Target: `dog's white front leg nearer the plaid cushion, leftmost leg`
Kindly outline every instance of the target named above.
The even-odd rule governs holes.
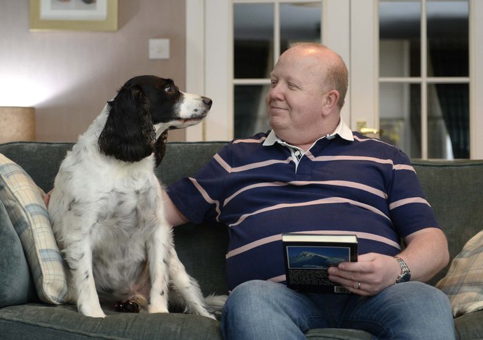
[[[87,317],[106,317],[99,303],[92,275],[92,250],[89,241],[73,241],[63,252],[77,290],[77,309]]]

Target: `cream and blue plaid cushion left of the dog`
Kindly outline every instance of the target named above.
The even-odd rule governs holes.
[[[72,292],[42,197],[30,176],[0,154],[0,201],[19,235],[37,294],[47,303],[69,302]]]

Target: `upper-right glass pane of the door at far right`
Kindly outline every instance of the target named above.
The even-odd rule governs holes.
[[[428,1],[428,76],[469,74],[468,0]]]

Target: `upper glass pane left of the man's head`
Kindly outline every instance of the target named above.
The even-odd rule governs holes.
[[[235,3],[235,78],[268,78],[273,69],[273,4]]]

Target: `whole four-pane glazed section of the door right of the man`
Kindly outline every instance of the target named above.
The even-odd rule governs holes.
[[[381,139],[469,158],[469,1],[379,1],[379,39]]]

